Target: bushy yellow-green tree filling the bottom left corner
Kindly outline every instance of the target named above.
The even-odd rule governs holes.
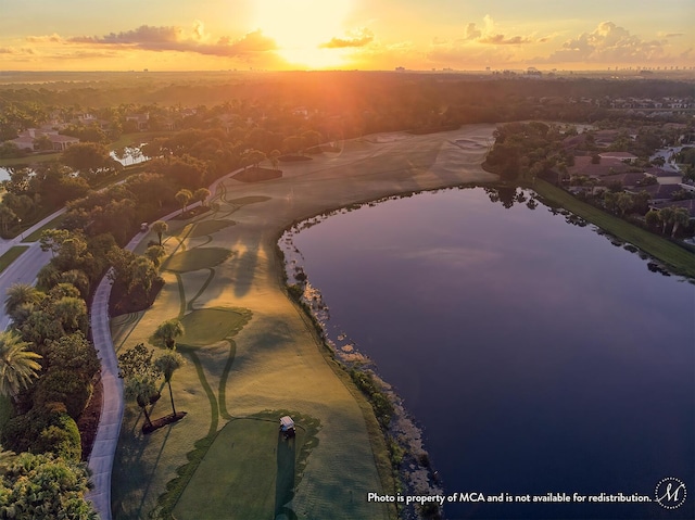
[[[2,475],[0,516],[98,520],[85,499],[89,487],[86,465],[51,454],[24,453]]]

